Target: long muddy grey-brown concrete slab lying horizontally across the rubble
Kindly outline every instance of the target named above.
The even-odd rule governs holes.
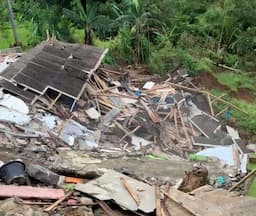
[[[114,169],[118,171],[126,170],[126,173],[137,176],[139,179],[158,179],[165,181],[167,178],[182,178],[186,170],[189,170],[193,163],[178,158],[176,156],[170,156],[168,160],[151,160],[147,158],[122,158],[117,159],[104,159],[99,160],[101,156],[90,156],[84,152],[79,151],[60,151],[56,156],[56,160],[52,164],[51,168],[57,173],[66,173],[72,175],[78,175],[81,177],[88,177],[92,174],[101,174],[99,168]],[[225,172],[216,163],[203,162],[209,170],[209,175],[224,175]],[[163,169],[164,167],[164,169]]]

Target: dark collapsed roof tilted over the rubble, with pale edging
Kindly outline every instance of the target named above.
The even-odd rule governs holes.
[[[23,88],[35,96],[52,89],[77,101],[106,52],[84,44],[44,41],[2,71],[0,85],[22,97],[27,97]]]

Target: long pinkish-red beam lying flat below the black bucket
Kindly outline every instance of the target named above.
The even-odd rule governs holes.
[[[30,186],[0,185],[0,197],[20,197],[23,199],[57,200],[65,195],[62,189],[40,188]]]

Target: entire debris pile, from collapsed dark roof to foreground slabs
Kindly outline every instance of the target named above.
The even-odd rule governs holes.
[[[198,203],[204,196],[186,193],[207,184],[228,189],[247,173],[251,151],[237,130],[217,119],[239,108],[187,87],[193,83],[180,68],[159,81],[101,64],[107,50],[58,41],[42,42],[22,55],[13,52],[5,52],[0,63],[1,148],[25,162],[0,155],[5,161],[0,197],[19,197],[14,200],[18,205],[48,206],[45,212],[83,208],[87,213],[81,215],[93,215],[99,206],[107,215],[129,210],[131,215],[156,211],[164,216],[167,200],[178,203],[168,205],[172,215],[175,208],[194,215],[224,215],[231,209],[214,202],[202,208]],[[228,108],[214,114],[214,102]],[[187,159],[202,156],[207,168],[191,170]],[[164,175],[154,172],[156,164]],[[138,166],[144,171],[136,172]],[[190,171],[183,177],[174,167],[181,175]],[[111,209],[111,201],[121,209]]]

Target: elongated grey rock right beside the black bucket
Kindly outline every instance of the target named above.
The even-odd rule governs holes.
[[[30,177],[46,185],[58,185],[62,179],[58,174],[36,164],[29,164],[26,171]]]

